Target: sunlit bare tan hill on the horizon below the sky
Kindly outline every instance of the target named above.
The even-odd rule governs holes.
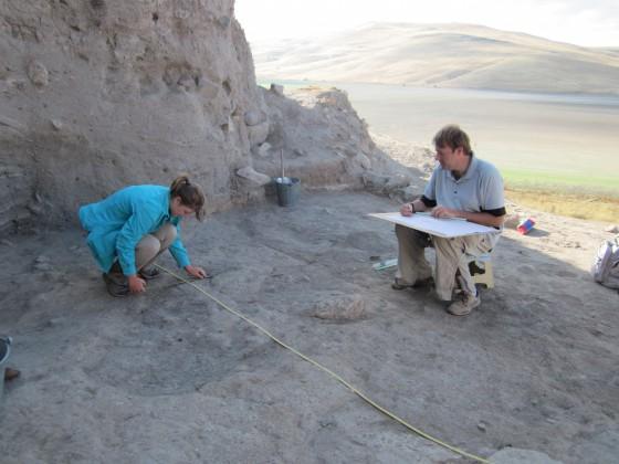
[[[263,78],[619,94],[617,49],[473,24],[373,23],[315,41],[251,46]]]

